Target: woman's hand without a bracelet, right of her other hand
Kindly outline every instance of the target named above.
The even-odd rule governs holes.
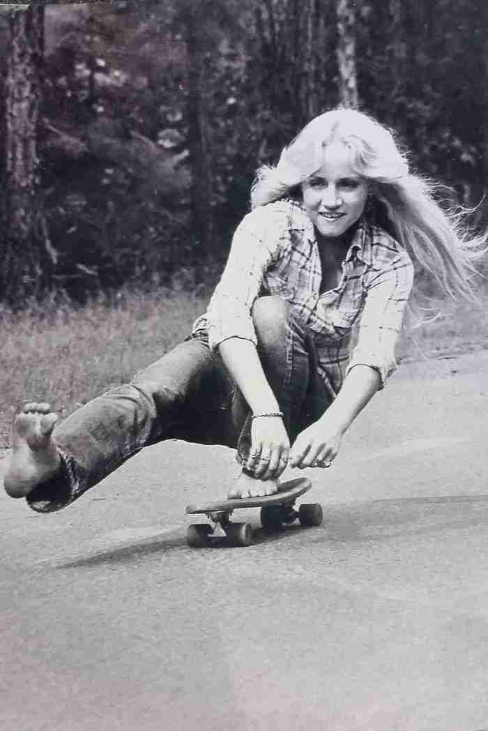
[[[330,467],[338,455],[343,430],[327,422],[322,417],[297,436],[290,450],[290,467]]]

